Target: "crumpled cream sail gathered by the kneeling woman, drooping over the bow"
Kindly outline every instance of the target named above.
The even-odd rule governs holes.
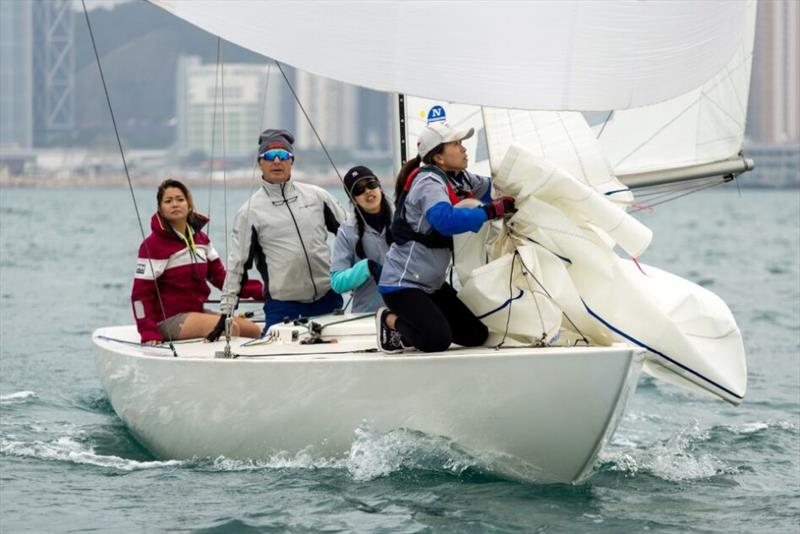
[[[491,261],[475,271],[482,276],[479,283],[470,278],[459,293],[476,314],[485,295],[502,302],[490,317],[494,322],[486,321],[493,332],[503,332],[496,317],[504,317],[506,308],[513,317],[515,292],[521,298],[524,288],[501,266],[524,255],[550,307],[529,306],[528,328],[513,330],[515,338],[524,339],[525,333],[537,338],[553,323],[553,310],[563,310],[570,320],[561,327],[572,334],[570,340],[578,334],[604,344],[610,336],[639,345],[648,351],[651,374],[741,402],[747,388],[745,352],[725,303],[707,289],[654,267],[640,268],[614,252],[619,246],[639,255],[650,242],[646,227],[569,172],[516,145],[506,152],[495,185],[517,198],[519,211],[501,230],[507,238],[489,247]],[[499,275],[485,276],[490,270]],[[533,311],[549,322],[537,320]]]

